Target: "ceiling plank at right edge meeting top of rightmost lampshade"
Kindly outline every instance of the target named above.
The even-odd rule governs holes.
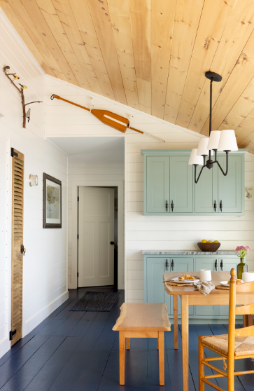
[[[236,129],[254,109],[254,78],[219,126],[219,130]]]

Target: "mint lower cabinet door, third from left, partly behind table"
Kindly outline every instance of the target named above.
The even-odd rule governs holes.
[[[195,259],[195,269],[196,270],[202,270],[202,269],[209,269],[211,271],[218,271],[219,270],[219,259],[218,258],[210,258],[210,257],[204,257],[204,258],[196,258]],[[207,316],[207,317],[213,317],[218,316],[220,313],[220,306],[196,306],[196,316]]]

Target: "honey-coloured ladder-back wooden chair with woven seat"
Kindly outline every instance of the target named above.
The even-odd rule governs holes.
[[[254,294],[253,304],[246,306],[236,306],[236,295],[241,292],[254,292],[254,282],[246,282],[245,284],[236,283],[236,270],[232,269],[230,272],[230,315],[228,322],[228,334],[221,336],[199,336],[199,391],[204,391],[205,383],[211,385],[218,391],[224,391],[209,381],[212,378],[227,377],[227,391],[234,391],[234,376],[246,375],[254,373],[253,371],[234,371],[235,359],[254,358],[254,326],[243,327],[241,329],[235,328],[236,315],[251,315],[254,314]],[[216,352],[220,357],[204,357],[204,348],[208,348]],[[209,363],[216,360],[227,359],[227,372],[222,371],[216,366]],[[205,376],[204,366],[208,366],[218,374]],[[224,366],[226,367],[226,366]]]

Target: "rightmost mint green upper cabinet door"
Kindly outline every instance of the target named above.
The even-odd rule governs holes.
[[[218,161],[226,170],[226,156],[219,156]],[[218,169],[218,212],[219,213],[241,213],[241,193],[244,184],[242,183],[242,159],[241,156],[230,156],[228,159],[228,173],[224,177]]]

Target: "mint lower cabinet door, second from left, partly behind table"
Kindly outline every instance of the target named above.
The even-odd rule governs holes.
[[[181,274],[189,274],[193,272],[194,259],[193,258],[171,258],[170,271],[179,272]],[[169,296],[169,295],[168,295]],[[173,297],[170,296],[170,315],[174,315]],[[181,315],[181,299],[178,300],[178,315]],[[189,315],[194,315],[194,307],[189,306]]]

